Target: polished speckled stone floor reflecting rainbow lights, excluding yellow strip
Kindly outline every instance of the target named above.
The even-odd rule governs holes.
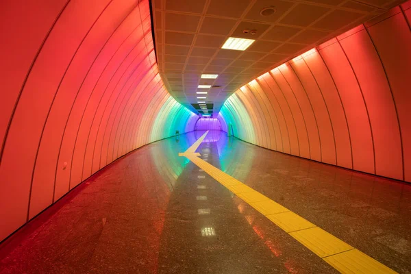
[[[338,273],[187,158],[204,132],[129,153],[0,245],[0,273]],[[398,273],[411,186],[209,132],[200,158]]]

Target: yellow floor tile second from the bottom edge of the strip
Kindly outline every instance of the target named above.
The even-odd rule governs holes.
[[[321,258],[353,249],[351,245],[332,236],[320,227],[292,232],[290,235]]]

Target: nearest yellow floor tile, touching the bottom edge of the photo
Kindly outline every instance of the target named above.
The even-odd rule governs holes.
[[[397,273],[384,264],[374,260],[358,249],[338,253],[324,258],[325,262],[334,266],[340,273],[383,274]]]

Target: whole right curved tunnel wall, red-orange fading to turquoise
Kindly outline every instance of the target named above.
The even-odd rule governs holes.
[[[221,119],[261,147],[411,182],[410,3],[242,86]]]

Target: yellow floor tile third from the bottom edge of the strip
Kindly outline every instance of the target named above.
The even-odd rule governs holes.
[[[267,215],[266,217],[273,221],[273,223],[284,229],[285,232],[295,232],[297,230],[315,227],[314,224],[290,211]]]

